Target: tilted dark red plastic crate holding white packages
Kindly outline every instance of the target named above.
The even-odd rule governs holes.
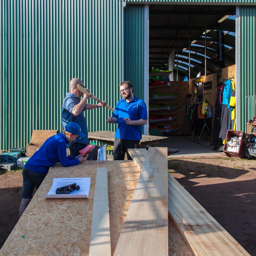
[[[240,137],[241,136],[241,143],[239,145],[238,148],[238,153],[236,152],[230,152],[227,151],[227,142],[230,140],[231,137],[233,136],[237,136]],[[225,144],[223,147],[223,152],[226,154],[226,156],[231,157],[231,158],[244,158],[245,156],[245,149],[246,149],[246,144],[245,144],[245,134],[243,131],[233,131],[233,130],[228,130],[227,135],[226,135],[226,139],[225,139]]]

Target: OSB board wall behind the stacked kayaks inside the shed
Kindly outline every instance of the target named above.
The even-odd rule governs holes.
[[[177,103],[180,104],[180,106],[177,109],[174,110],[156,110],[156,111],[149,111],[150,115],[178,115],[176,119],[173,121],[162,121],[162,122],[154,122],[152,125],[184,125],[184,114],[186,111],[186,101],[187,101],[187,94],[190,94],[189,92],[189,82],[184,81],[177,81],[175,84],[171,84],[170,86],[160,87],[160,88],[153,88],[149,91],[154,93],[161,92],[161,93],[178,93],[180,96],[176,99],[164,99],[164,100],[153,100],[153,103],[164,103],[164,104],[173,104]],[[180,129],[177,132],[172,133],[163,133],[164,136],[166,135],[180,135],[184,134],[184,129]]]

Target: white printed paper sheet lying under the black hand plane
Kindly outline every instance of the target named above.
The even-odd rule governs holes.
[[[70,194],[56,194],[56,189],[76,183],[80,186],[79,190],[73,190]],[[47,195],[43,195],[45,198],[88,198],[89,190],[91,186],[91,178],[54,178],[52,187]]]

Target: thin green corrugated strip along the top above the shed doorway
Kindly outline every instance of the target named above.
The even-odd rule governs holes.
[[[172,4],[253,4],[256,3],[255,0],[124,0],[130,3],[172,3]]]

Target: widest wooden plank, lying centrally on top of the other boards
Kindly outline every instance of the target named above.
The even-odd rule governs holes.
[[[148,149],[114,256],[168,255],[166,154]]]

